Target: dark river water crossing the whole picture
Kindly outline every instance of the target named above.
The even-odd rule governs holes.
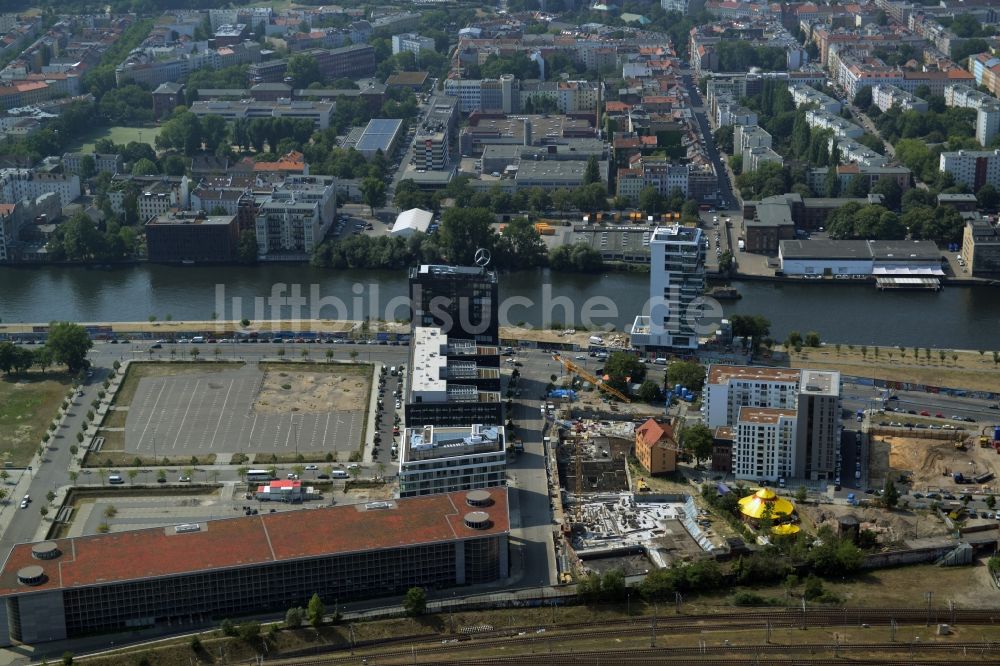
[[[501,276],[505,323],[581,322],[627,328],[646,307],[648,276],[579,275],[548,270]],[[761,314],[772,336],[814,330],[824,340],[907,347],[1000,350],[1000,291],[946,287],[883,293],[871,284],[742,282],[725,314]],[[293,289],[297,289],[295,292]],[[3,323],[290,317],[395,319],[404,316],[403,271],[330,271],[303,265],[160,266],[114,269],[0,267]],[[269,297],[298,296],[284,303]],[[518,297],[514,300],[514,297]],[[395,299],[395,300],[394,300]],[[395,309],[393,309],[395,307]],[[387,309],[388,308],[388,309]],[[584,310],[587,310],[586,312]]]

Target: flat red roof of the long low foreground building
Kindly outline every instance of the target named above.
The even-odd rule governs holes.
[[[57,539],[62,554],[54,560],[35,559],[31,544],[18,544],[0,569],[0,596],[509,532],[507,489],[489,493],[493,504],[486,508],[470,507],[466,493],[457,492],[394,500],[391,508],[357,504],[211,520],[180,534],[157,527]],[[471,511],[487,512],[490,527],[467,527],[463,519]],[[45,582],[18,582],[18,570],[30,565],[43,568]]]

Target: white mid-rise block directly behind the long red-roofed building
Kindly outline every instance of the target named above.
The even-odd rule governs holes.
[[[406,428],[399,450],[399,496],[476,490],[506,483],[507,448],[499,425]]]

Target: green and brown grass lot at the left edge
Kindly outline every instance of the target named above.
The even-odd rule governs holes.
[[[0,381],[0,458],[27,465],[69,390],[64,373],[31,372]]]

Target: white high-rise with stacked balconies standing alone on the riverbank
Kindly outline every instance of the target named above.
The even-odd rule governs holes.
[[[632,344],[651,349],[697,349],[697,308],[705,289],[701,229],[657,227],[649,239],[649,316],[636,317]]]

